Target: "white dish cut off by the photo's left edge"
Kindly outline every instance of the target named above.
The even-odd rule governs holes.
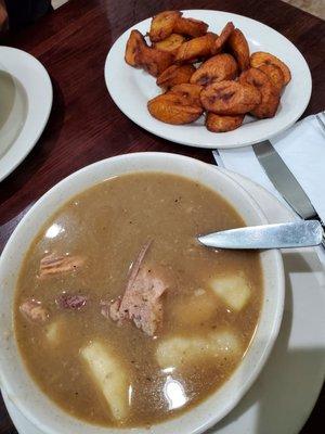
[[[52,107],[43,65],[25,51],[0,47],[0,181],[31,151]]]

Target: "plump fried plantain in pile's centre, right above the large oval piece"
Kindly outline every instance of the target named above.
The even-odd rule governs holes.
[[[217,54],[204,62],[192,75],[190,82],[207,86],[232,80],[237,76],[237,64],[231,54]]]

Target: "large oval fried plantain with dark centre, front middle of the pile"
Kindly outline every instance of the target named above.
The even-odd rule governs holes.
[[[225,80],[203,89],[200,102],[208,112],[239,115],[251,112],[261,102],[261,93],[251,85]]]

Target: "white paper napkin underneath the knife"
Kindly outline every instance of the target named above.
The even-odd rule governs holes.
[[[320,115],[322,116],[322,115]],[[325,122],[325,116],[322,117]],[[315,115],[300,120],[271,143],[325,221],[325,129]],[[217,164],[261,184],[286,206],[259,164],[251,146],[213,151]]]

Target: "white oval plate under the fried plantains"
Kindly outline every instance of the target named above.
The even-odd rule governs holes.
[[[116,105],[135,124],[156,136],[172,142],[198,148],[238,148],[257,143],[290,127],[304,112],[311,95],[311,74],[308,64],[298,49],[273,28],[246,16],[221,11],[190,10],[184,16],[205,21],[209,30],[220,34],[226,22],[245,34],[250,51],[268,51],[282,59],[290,68],[292,79],[286,87],[275,117],[247,122],[238,129],[229,132],[210,132],[204,127],[204,116],[194,124],[168,125],[154,117],[147,111],[147,101],[161,90],[155,78],[144,71],[133,68],[125,62],[126,43],[132,29],[145,35],[151,18],[135,24],[122,34],[106,59],[105,80]]]

